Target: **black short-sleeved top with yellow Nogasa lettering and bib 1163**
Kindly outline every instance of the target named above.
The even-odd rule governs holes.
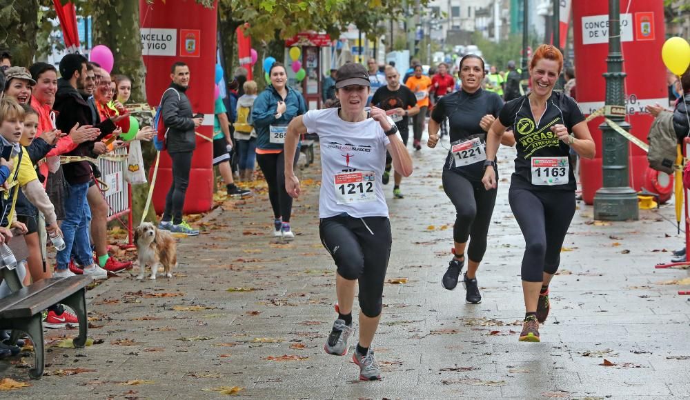
[[[529,94],[506,103],[498,119],[512,126],[517,157],[511,188],[529,190],[575,190],[575,174],[569,163],[570,146],[563,143],[551,127],[562,124],[573,132],[573,126],[584,121],[584,115],[571,97],[552,92],[546,110],[535,121],[529,105]]]

